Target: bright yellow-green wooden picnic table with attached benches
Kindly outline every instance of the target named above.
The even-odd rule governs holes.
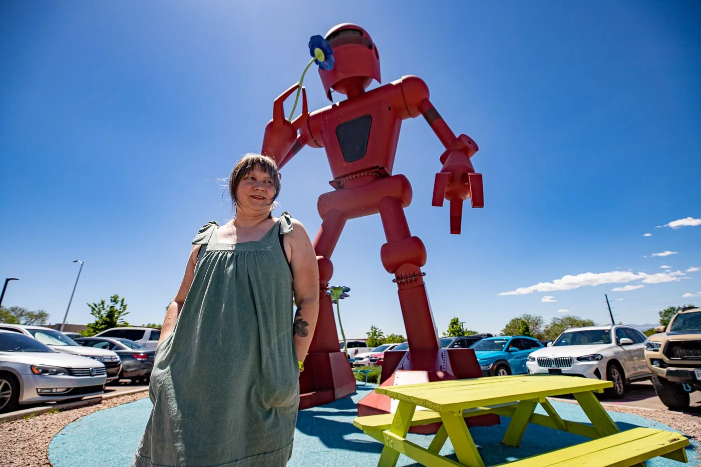
[[[399,401],[397,410],[394,414],[357,417],[353,424],[385,445],[378,467],[394,467],[400,454],[429,467],[484,467],[464,418],[486,413],[511,418],[502,440],[509,446],[519,445],[529,423],[592,438],[579,445],[509,462],[510,467],[644,466],[644,461],[655,456],[686,462],[684,448],[689,441],[679,433],[653,428],[619,430],[594,395],[611,386],[611,381],[559,375],[378,386],[377,393]],[[557,414],[547,397],[565,394],[574,395],[591,425],[563,420]],[[538,404],[547,415],[533,412]],[[436,422],[442,422],[442,426],[428,449],[406,439],[411,426]],[[439,454],[447,438],[458,462]]]

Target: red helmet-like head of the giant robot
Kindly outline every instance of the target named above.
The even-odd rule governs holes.
[[[331,70],[319,70],[326,97],[331,102],[331,90],[347,94],[351,88],[366,89],[372,80],[380,80],[380,55],[365,29],[349,22],[337,25],[325,38],[334,49],[336,63]]]

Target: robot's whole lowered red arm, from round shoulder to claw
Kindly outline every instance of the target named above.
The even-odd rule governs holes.
[[[432,204],[442,206],[444,199],[450,201],[450,233],[460,234],[463,201],[470,198],[472,208],[484,207],[482,174],[475,173],[470,161],[479,150],[477,143],[467,135],[456,137],[431,104],[428,99],[428,87],[421,79],[416,76],[402,79],[402,93],[407,102],[409,116],[423,115],[445,147],[440,156],[443,167],[435,176]]]

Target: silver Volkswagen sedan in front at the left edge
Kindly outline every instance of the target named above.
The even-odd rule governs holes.
[[[102,394],[104,364],[53,351],[32,337],[0,331],[0,413],[19,405]]]

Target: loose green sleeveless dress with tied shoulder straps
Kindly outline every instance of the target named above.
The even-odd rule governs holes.
[[[156,352],[151,417],[132,467],[279,467],[292,454],[299,365],[292,339],[292,273],[280,235],[202,245],[175,330]]]

